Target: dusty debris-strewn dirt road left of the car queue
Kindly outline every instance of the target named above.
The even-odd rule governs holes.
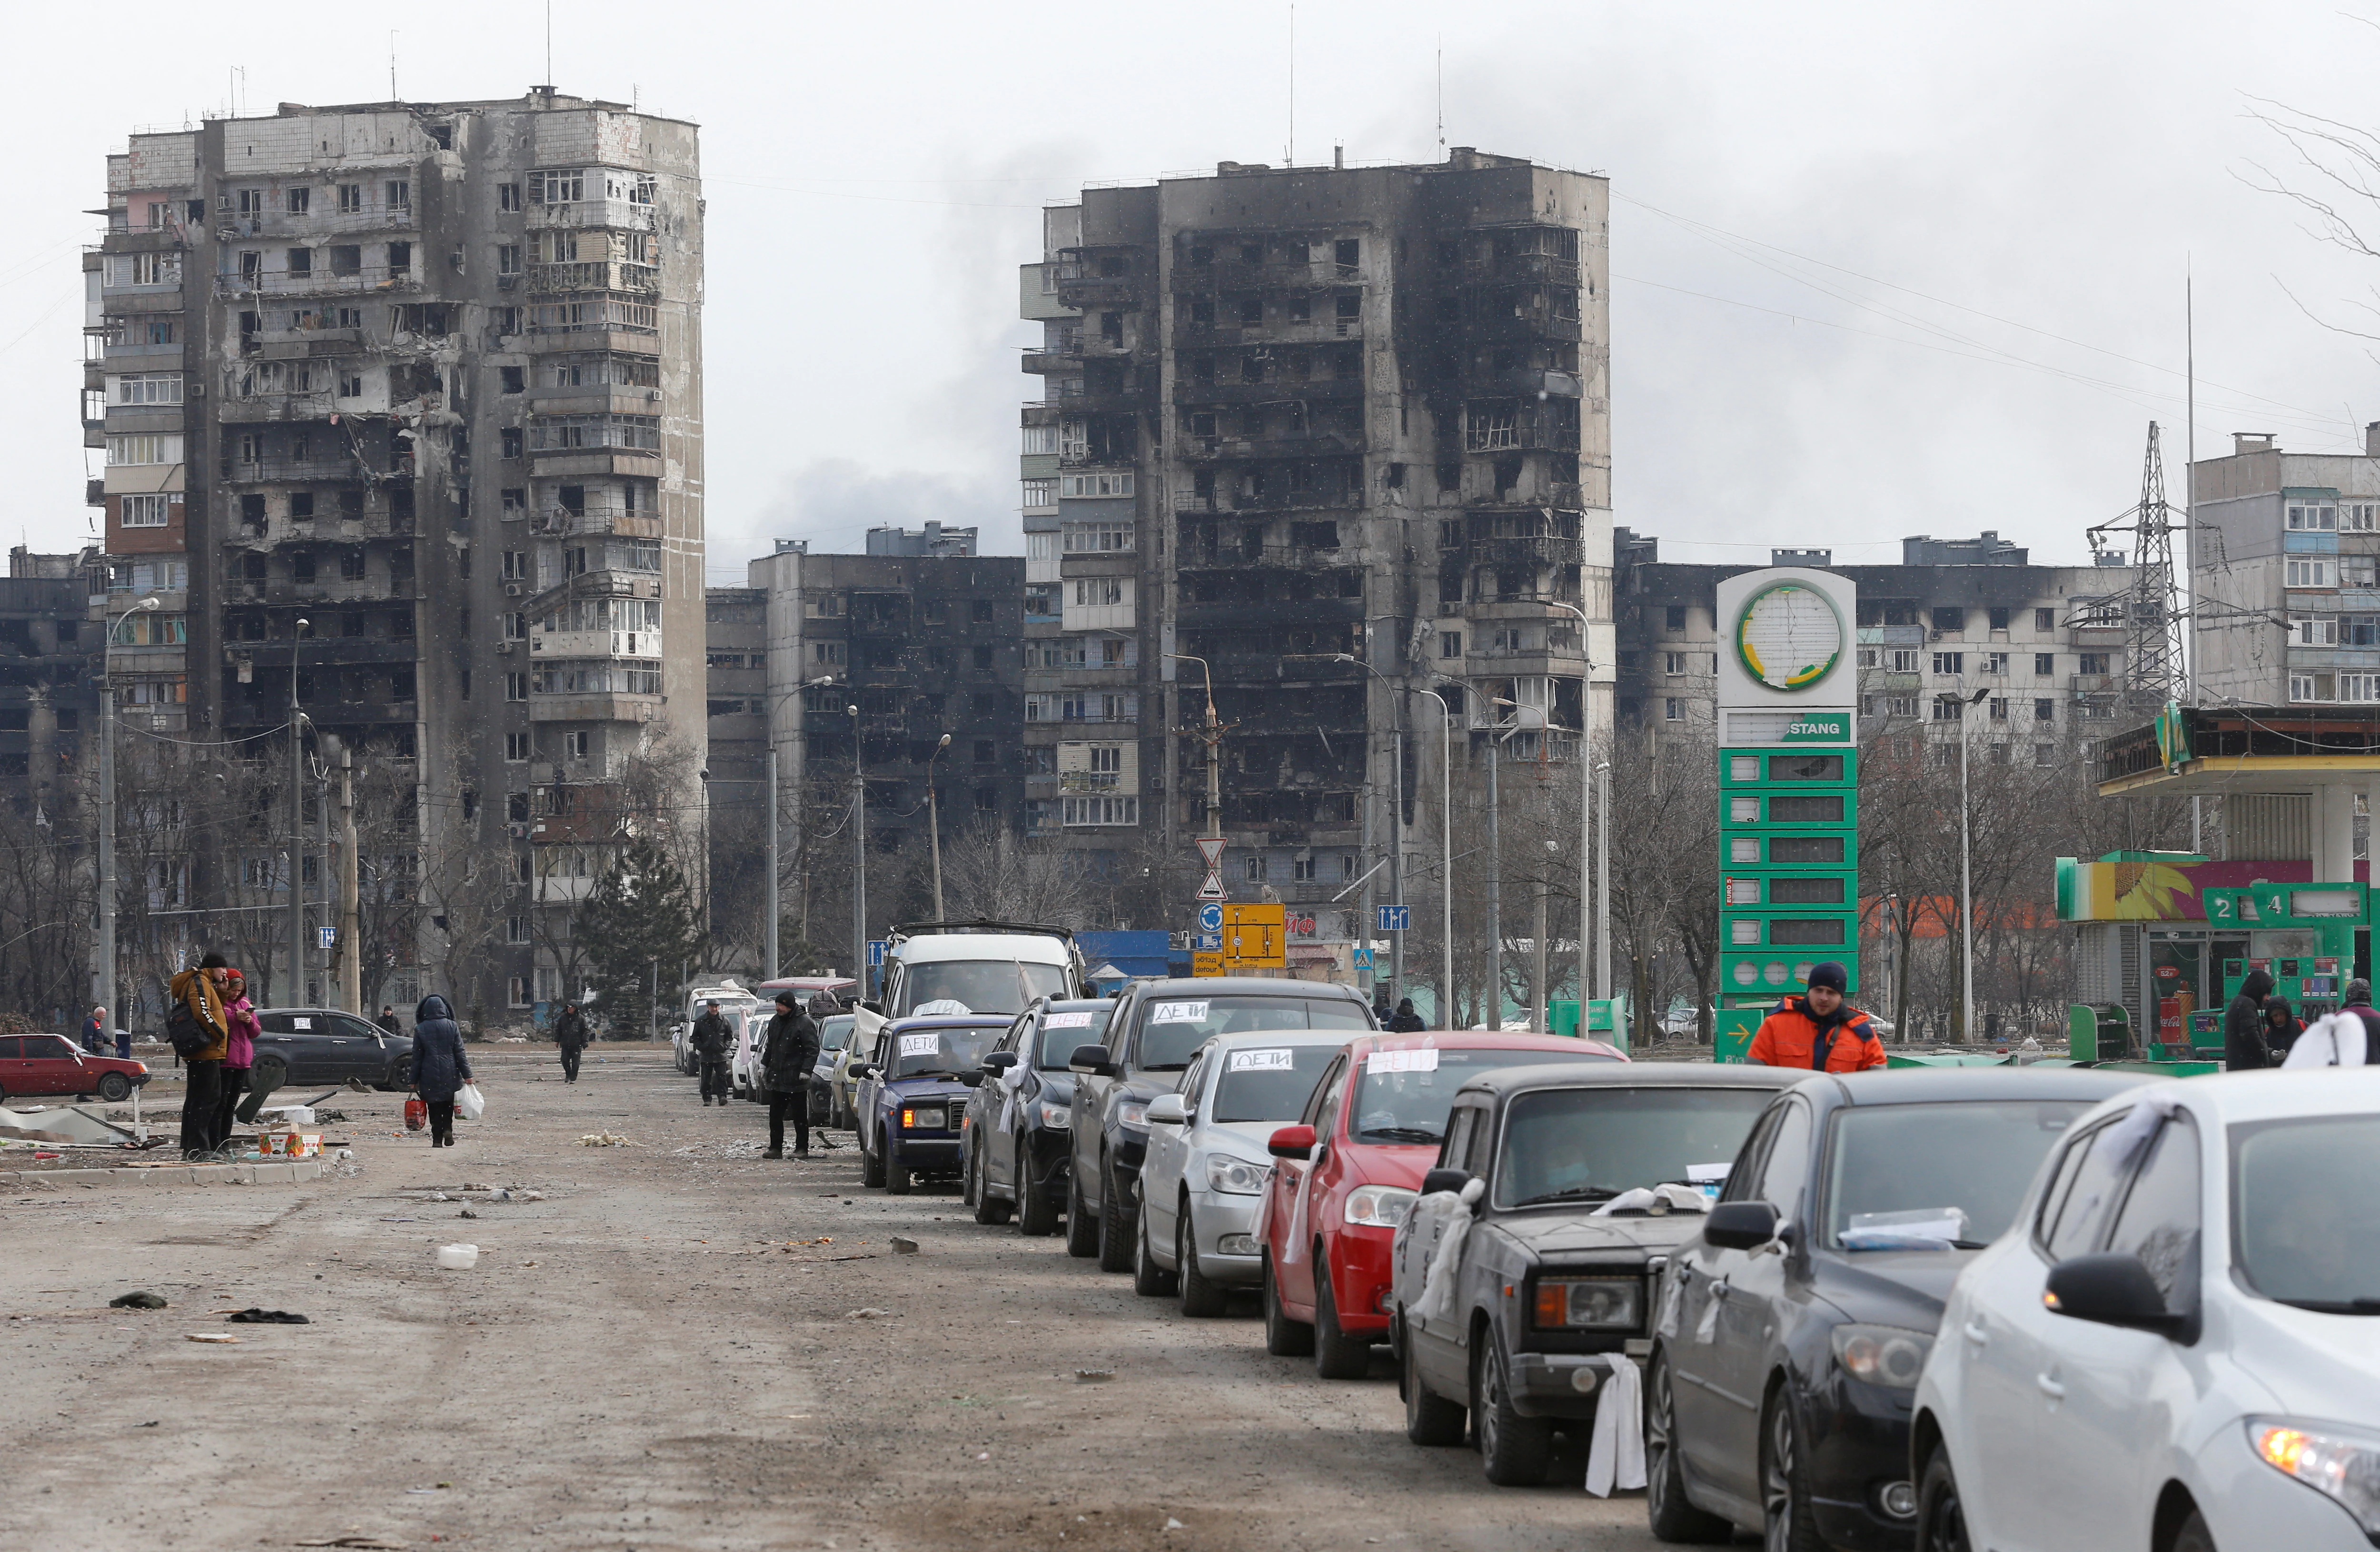
[[[1254,1302],[1185,1321],[954,1190],[864,1190],[847,1133],[754,1157],[766,1112],[704,1109],[666,1050],[600,1047],[578,1085],[471,1057],[488,1119],[452,1150],[400,1095],[340,1095],[355,1178],[0,1200],[0,1545],[1654,1545],[1583,1459],[1511,1490],[1416,1450],[1385,1359],[1319,1381],[1264,1354]],[[474,1271],[433,1264],[457,1240]],[[133,1288],[171,1307],[107,1309]]]

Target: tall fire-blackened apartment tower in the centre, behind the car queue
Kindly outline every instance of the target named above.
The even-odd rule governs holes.
[[[1178,862],[1211,676],[1223,878],[1314,907],[1295,957],[1388,881],[1349,895],[1390,847],[1399,719],[1438,726],[1416,690],[1476,743],[1523,707],[1573,747],[1590,657],[1611,674],[1606,276],[1604,179],[1468,148],[1045,212],[1028,828],[1088,869]],[[1409,812],[1438,774],[1418,747]]]

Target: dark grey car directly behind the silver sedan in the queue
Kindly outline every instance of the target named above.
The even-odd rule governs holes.
[[[1069,1059],[1078,1083],[1069,1119],[1066,1254],[1097,1254],[1100,1271],[1133,1269],[1150,1100],[1173,1093],[1200,1045],[1250,1028],[1345,1028],[1347,1038],[1380,1028],[1364,993],[1321,981],[1135,981],[1114,1007],[1104,1040],[1085,1040]]]

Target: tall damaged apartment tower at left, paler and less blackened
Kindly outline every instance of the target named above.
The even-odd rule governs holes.
[[[383,1000],[550,1000],[550,916],[616,828],[569,816],[702,757],[695,126],[538,86],[133,133],[86,271],[109,593],[186,612],[190,733],[281,769],[295,674],[309,750],[412,793],[367,859],[416,907],[362,945]]]

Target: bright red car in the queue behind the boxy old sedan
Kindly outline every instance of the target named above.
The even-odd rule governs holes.
[[[1257,1216],[1264,1350],[1314,1354],[1323,1378],[1364,1378],[1388,1340],[1388,1252],[1438,1164],[1454,1090],[1540,1062],[1626,1062],[1602,1040],[1454,1031],[1364,1035],[1323,1071],[1299,1126],[1271,1138]],[[1316,1278],[1316,1266],[1328,1276]]]

